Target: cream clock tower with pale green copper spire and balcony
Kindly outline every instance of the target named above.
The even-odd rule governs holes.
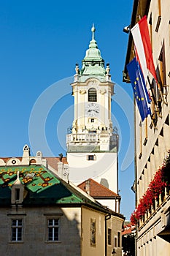
[[[66,136],[69,179],[75,184],[93,178],[98,183],[118,192],[117,185],[117,134],[113,132],[111,97],[114,83],[109,64],[98,50],[94,34],[82,67],[76,64],[72,83],[74,121]]]

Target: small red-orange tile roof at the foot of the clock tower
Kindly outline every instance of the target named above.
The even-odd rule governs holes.
[[[107,187],[104,187],[103,185],[99,184],[98,182],[94,181],[92,178],[89,178],[87,181],[90,181],[90,196],[94,197],[95,199],[102,199],[102,198],[115,198],[120,197],[115,192],[112,192],[112,190],[107,189]],[[85,189],[85,182],[83,181],[81,184],[79,184],[77,187],[80,187],[83,191],[87,192]]]

